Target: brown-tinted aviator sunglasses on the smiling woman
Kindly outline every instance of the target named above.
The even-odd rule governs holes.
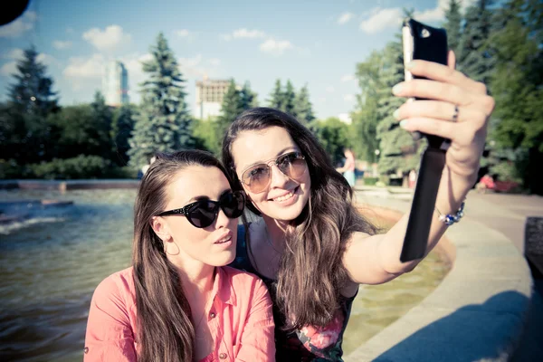
[[[262,193],[271,183],[271,166],[276,165],[286,176],[298,181],[308,165],[300,152],[290,152],[243,171],[242,182],[254,194]]]

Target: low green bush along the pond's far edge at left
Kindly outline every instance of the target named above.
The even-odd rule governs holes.
[[[78,179],[99,178],[112,175],[111,162],[100,156],[80,155],[73,158],[53,158],[50,162],[28,165],[36,178]]]

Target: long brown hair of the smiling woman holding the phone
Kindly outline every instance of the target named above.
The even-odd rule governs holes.
[[[285,234],[276,298],[281,312],[293,316],[291,328],[325,326],[339,307],[340,289],[348,281],[343,266],[345,245],[354,232],[373,234],[375,227],[352,204],[353,191],[333,167],[327,152],[309,129],[290,115],[269,108],[244,111],[226,131],[223,163],[234,180],[233,141],[243,131],[270,127],[285,129],[300,147],[308,163],[311,191],[308,204],[292,220]],[[235,182],[234,187],[242,188]],[[248,201],[247,207],[258,211]],[[250,235],[246,233],[250,245]]]

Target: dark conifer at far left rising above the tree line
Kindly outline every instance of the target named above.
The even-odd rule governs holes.
[[[44,117],[58,109],[52,78],[46,76],[47,67],[38,61],[34,46],[24,51],[23,59],[17,62],[17,71],[9,98],[19,110]]]

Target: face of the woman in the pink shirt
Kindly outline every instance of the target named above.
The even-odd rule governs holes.
[[[228,180],[219,168],[186,167],[167,186],[164,211],[179,209],[200,199],[217,201],[230,190]],[[155,216],[152,226],[165,242],[167,258],[174,264],[222,266],[235,257],[237,221],[237,218],[229,219],[219,209],[214,223],[205,228],[196,228],[183,214]]]

